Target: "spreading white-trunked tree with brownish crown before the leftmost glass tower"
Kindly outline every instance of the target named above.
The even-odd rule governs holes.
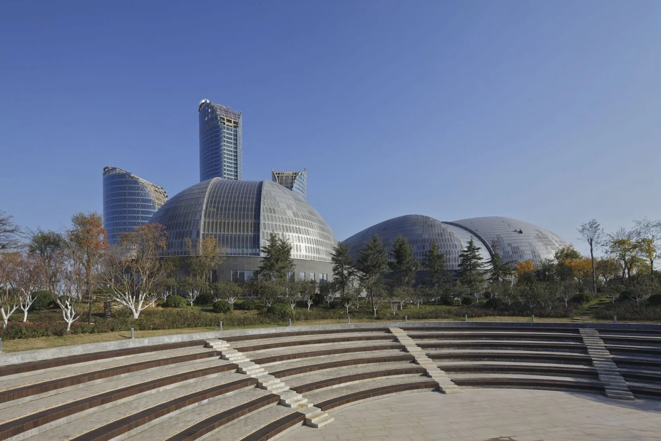
[[[130,309],[137,319],[161,294],[168,268],[161,259],[167,232],[163,225],[146,223],[122,235],[119,247],[106,252],[104,282],[110,298]]]

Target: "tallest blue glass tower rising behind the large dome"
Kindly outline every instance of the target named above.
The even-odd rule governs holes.
[[[200,182],[222,178],[243,179],[241,112],[200,101]]]

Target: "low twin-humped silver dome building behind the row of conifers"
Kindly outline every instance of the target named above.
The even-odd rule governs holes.
[[[354,259],[358,259],[360,250],[375,234],[381,237],[388,252],[397,236],[402,235],[413,247],[414,255],[420,262],[432,242],[436,242],[439,252],[447,257],[448,270],[458,269],[459,254],[471,237],[480,247],[483,261],[491,258],[491,244],[496,243],[503,261],[515,264],[533,261],[537,266],[543,259],[553,259],[558,249],[569,245],[547,229],[511,218],[489,216],[442,222],[429,216],[409,214],[377,223],[346,239],[344,243]]]

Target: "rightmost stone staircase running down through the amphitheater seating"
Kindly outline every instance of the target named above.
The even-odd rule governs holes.
[[[603,383],[605,395],[614,399],[634,400],[633,393],[613,362],[599,331],[581,328],[579,332],[588,348],[588,354],[592,357],[592,365],[597,370],[599,380]]]

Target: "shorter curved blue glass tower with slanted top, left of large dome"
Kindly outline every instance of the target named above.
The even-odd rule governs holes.
[[[103,227],[108,243],[116,245],[122,233],[149,222],[166,201],[163,187],[117,167],[104,167]]]

